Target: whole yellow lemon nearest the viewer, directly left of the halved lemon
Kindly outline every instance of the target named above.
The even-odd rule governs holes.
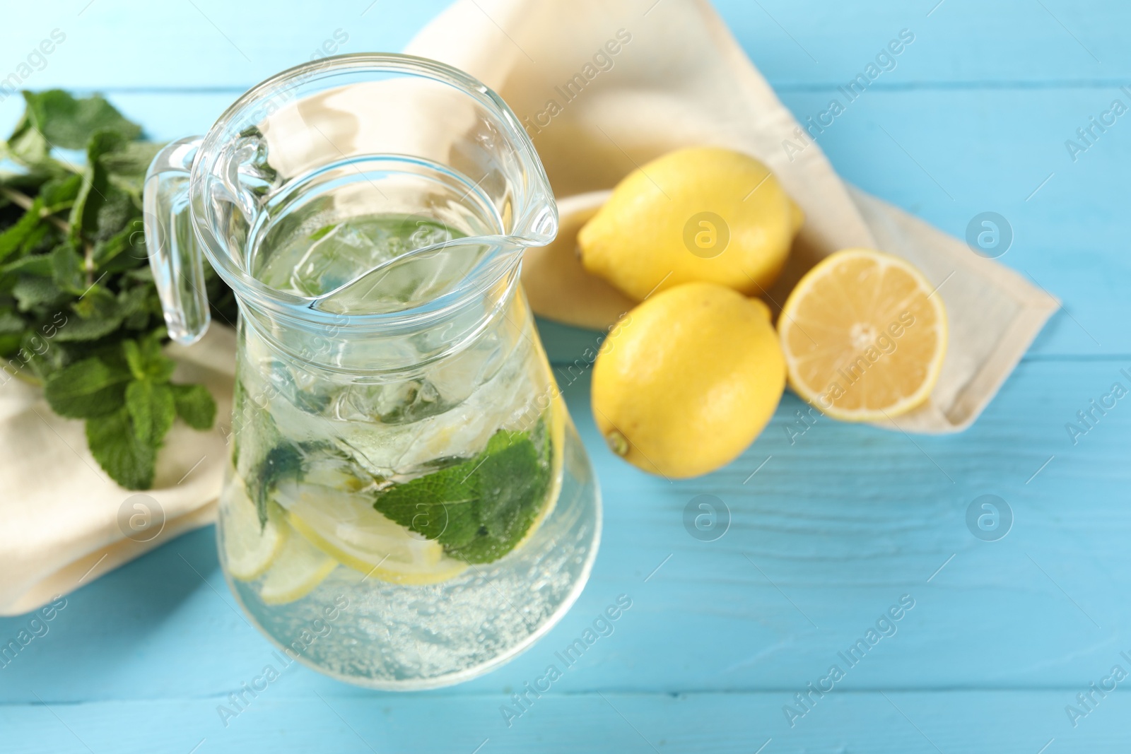
[[[692,477],[742,453],[783,390],[785,358],[766,305],[688,283],[650,296],[608,333],[593,367],[593,415],[633,466]]]

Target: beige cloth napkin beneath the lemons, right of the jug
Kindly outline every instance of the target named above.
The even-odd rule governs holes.
[[[585,272],[575,236],[620,179],[691,145],[758,157],[805,210],[805,225],[767,303],[848,246],[914,262],[939,288],[950,348],[929,404],[907,432],[958,432],[993,398],[1059,303],[965,243],[847,187],[754,69],[706,0],[459,0],[406,52],[468,71],[527,127],[559,200],[562,227],[527,252],[523,283],[538,314],[603,328],[632,303]],[[779,306],[778,306],[779,307]],[[891,423],[880,426],[892,427]]]

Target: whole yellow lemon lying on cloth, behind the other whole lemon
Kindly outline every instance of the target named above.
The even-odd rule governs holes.
[[[766,165],[680,149],[630,173],[577,236],[581,263],[634,301],[683,283],[768,288],[804,215]]]

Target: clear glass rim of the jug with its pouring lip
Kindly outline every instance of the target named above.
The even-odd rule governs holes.
[[[219,177],[214,171],[222,149],[236,137],[232,127],[249,112],[264,107],[259,121],[276,110],[267,106],[279,94],[292,87],[300,86],[321,77],[330,77],[345,71],[372,71],[374,73],[394,73],[418,76],[447,84],[478,101],[498,118],[499,127],[504,130],[504,137],[513,146],[524,173],[529,176],[520,200],[516,202],[519,210],[515,213],[513,227],[510,233],[494,235],[477,235],[459,239],[460,243],[474,243],[482,239],[490,242],[493,249],[451,289],[430,301],[415,304],[404,310],[379,313],[342,313],[313,309],[310,298],[303,298],[265,285],[240,267],[227,252],[214,219],[214,209],[206,192],[205,179]],[[290,102],[290,101],[286,101]],[[190,173],[190,205],[195,234],[204,249],[208,261],[217,274],[236,294],[242,304],[278,315],[292,324],[305,322],[312,326],[325,324],[349,329],[383,329],[387,327],[403,328],[405,326],[424,324],[442,319],[447,313],[461,307],[470,297],[483,294],[493,286],[500,275],[520,261],[520,254],[515,254],[511,263],[500,265],[500,257],[508,249],[517,250],[527,246],[544,245],[553,240],[558,231],[558,208],[546,177],[542,161],[530,141],[529,135],[521,127],[518,116],[510,106],[489,86],[452,66],[437,60],[392,52],[347,53],[320,58],[283,70],[248,89],[232,103],[204,136],[192,159]],[[413,253],[434,252],[452,242],[424,246]]]

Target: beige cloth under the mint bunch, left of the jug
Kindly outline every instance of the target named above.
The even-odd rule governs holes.
[[[174,382],[204,382],[216,396],[217,425],[176,423],[145,493],[114,484],[87,450],[83,422],[52,414],[38,388],[15,378],[0,385],[0,615],[35,609],[215,520],[235,333],[213,324],[197,346],[169,353]]]

